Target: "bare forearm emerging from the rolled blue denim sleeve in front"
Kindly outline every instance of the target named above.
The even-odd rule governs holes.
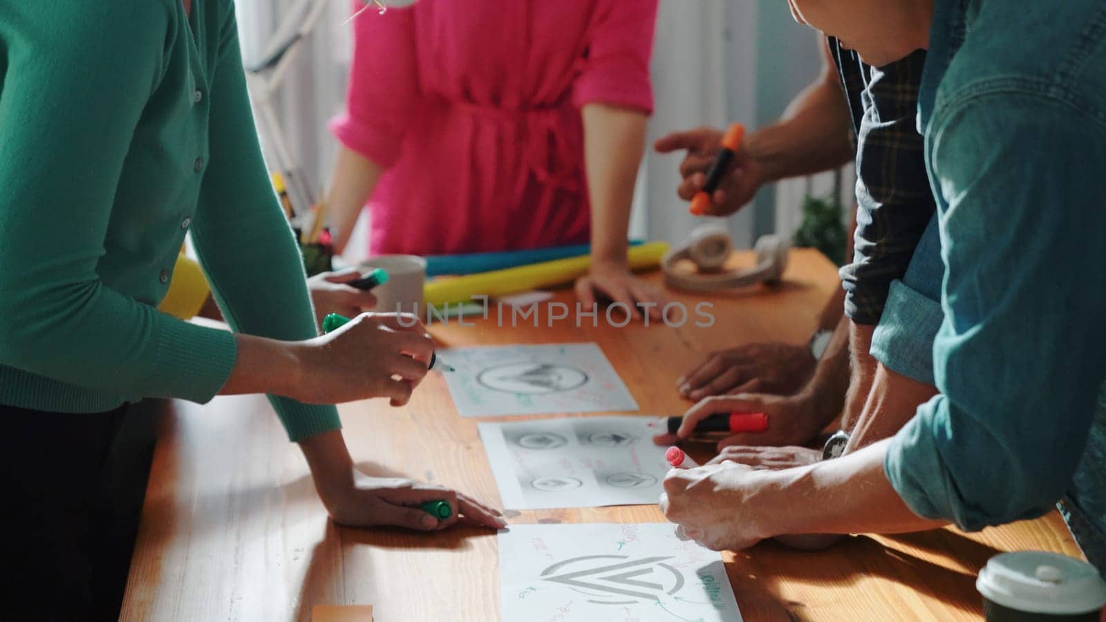
[[[763,538],[790,533],[901,533],[948,525],[915,515],[884,474],[888,440],[808,467],[759,471]]]

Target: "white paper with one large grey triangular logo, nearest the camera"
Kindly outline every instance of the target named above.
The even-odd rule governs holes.
[[[499,532],[503,622],[740,622],[721,554],[669,523]]]

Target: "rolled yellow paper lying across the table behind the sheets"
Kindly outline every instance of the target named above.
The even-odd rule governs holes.
[[[648,270],[660,265],[660,258],[668,252],[667,242],[649,242],[630,247],[626,253],[630,270]],[[495,298],[538,288],[547,288],[572,282],[592,265],[588,255],[568,257],[554,261],[542,261],[530,266],[519,266],[505,270],[492,270],[465,277],[438,278],[422,287],[426,304],[436,308],[455,302],[471,302],[473,296]]]

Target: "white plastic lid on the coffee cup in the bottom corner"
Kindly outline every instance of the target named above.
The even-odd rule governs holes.
[[[1026,613],[1077,614],[1106,604],[1098,570],[1073,557],[1018,551],[992,557],[975,589],[989,601]]]

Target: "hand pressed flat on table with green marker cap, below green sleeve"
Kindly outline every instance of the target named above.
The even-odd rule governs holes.
[[[502,529],[502,515],[476,499],[431,484],[400,477],[372,477],[354,467],[340,431],[325,432],[300,442],[311,467],[315,489],[326,511],[338,525],[375,527],[390,525],[429,531],[458,521]],[[419,506],[445,500],[452,512],[439,520]]]

